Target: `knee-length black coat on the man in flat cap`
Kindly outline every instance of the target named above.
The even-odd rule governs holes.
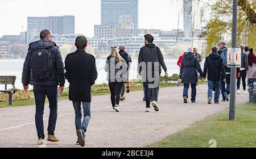
[[[91,86],[98,76],[94,56],[79,49],[66,57],[65,70],[69,82],[69,100],[90,102]]]

